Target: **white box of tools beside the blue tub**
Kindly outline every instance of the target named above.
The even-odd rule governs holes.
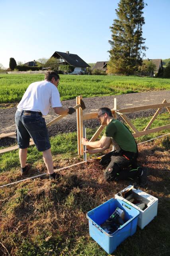
[[[117,193],[115,194],[115,198],[121,199],[139,210],[140,214],[138,216],[137,225],[143,229],[157,215],[158,198],[151,196],[142,190],[135,189],[132,185],[129,185],[127,188],[121,190],[120,192],[122,196],[119,196],[119,193]],[[143,210],[141,210],[139,206],[129,202],[129,200],[133,201],[133,199],[135,199],[136,202],[138,201],[141,203],[141,208],[143,208],[142,206],[145,204]]]

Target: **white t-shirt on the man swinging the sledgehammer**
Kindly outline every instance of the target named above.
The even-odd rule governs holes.
[[[52,108],[61,107],[60,94],[57,87],[43,80],[30,84],[18,104],[19,110],[38,111],[46,116]]]

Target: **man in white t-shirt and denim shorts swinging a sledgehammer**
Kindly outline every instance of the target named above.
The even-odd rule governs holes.
[[[29,166],[26,165],[27,148],[30,137],[33,139],[38,151],[43,152],[43,160],[47,167],[49,179],[55,179],[51,144],[45,119],[50,106],[58,115],[72,114],[74,108],[63,108],[60,101],[59,75],[54,71],[45,74],[45,80],[30,84],[17,106],[15,121],[17,128],[17,140],[19,146],[19,158],[21,175],[27,174]]]

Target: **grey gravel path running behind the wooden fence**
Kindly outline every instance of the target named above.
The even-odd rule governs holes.
[[[162,91],[149,91],[149,92],[139,92],[131,94],[122,94],[116,96],[103,96],[103,97],[93,97],[93,98],[84,98],[84,103],[86,109],[83,110],[84,113],[96,112],[100,107],[109,107],[113,108],[114,98],[117,98],[117,104],[120,108],[130,108],[133,106],[144,106],[150,104],[162,103],[164,99],[167,102],[170,101],[170,90]],[[62,102],[63,107],[74,106],[74,100],[65,100]],[[165,110],[163,109],[162,112]],[[14,132],[16,130],[14,116],[16,112],[15,108],[6,108],[0,109],[0,134]],[[137,118],[142,116],[153,115],[156,110],[147,110],[135,113],[129,113],[127,116],[129,118]],[[45,116],[46,123],[50,122],[56,117],[56,114],[53,109],[50,109],[49,114]],[[119,119],[119,117],[118,117]],[[99,122],[96,119],[84,121],[85,127],[95,128],[99,126]],[[49,135],[54,136],[59,133],[64,132],[73,132],[76,131],[76,114],[72,114],[64,117],[60,122],[57,122],[53,126],[48,128]],[[14,140],[11,138],[3,138],[0,140],[0,146],[9,146],[11,143],[14,143]]]

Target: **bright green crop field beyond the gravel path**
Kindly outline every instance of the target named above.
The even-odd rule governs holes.
[[[61,100],[83,97],[127,94],[148,90],[170,90],[170,79],[137,76],[72,76],[60,75]],[[43,74],[0,74],[0,103],[19,102],[32,82]]]

